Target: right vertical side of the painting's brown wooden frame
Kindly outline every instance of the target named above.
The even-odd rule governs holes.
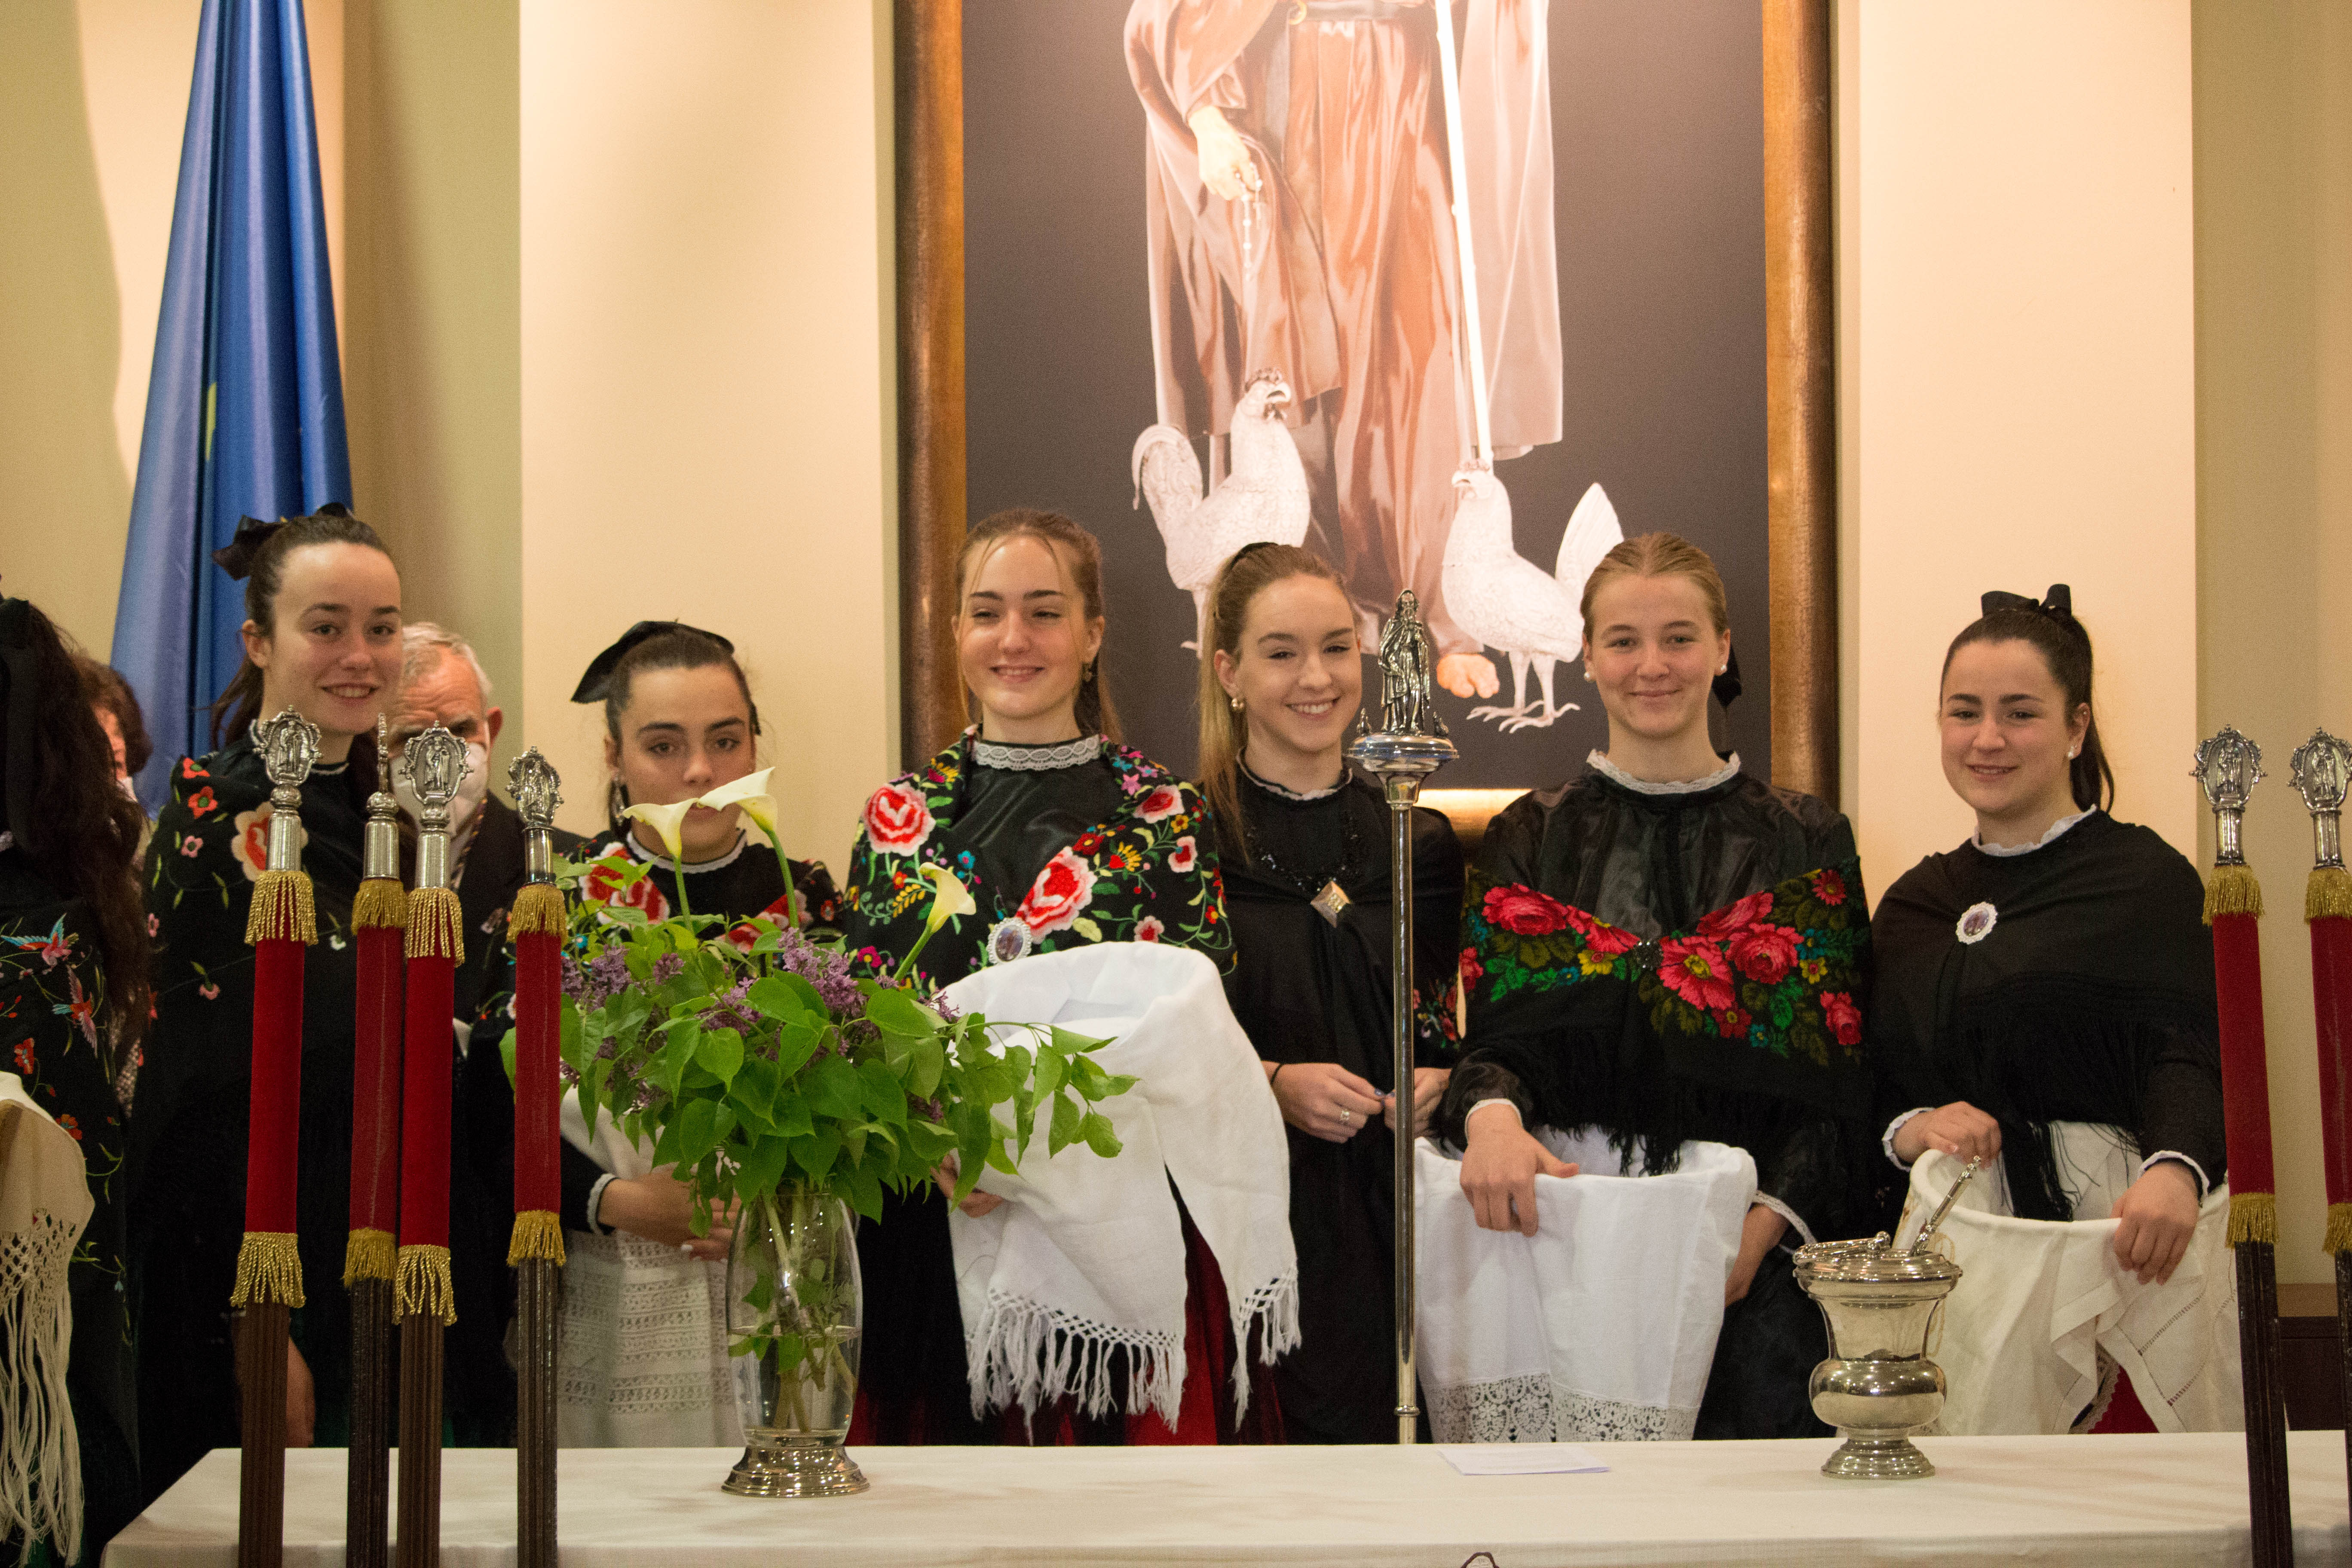
[[[1837,804],[1830,0],[1764,0],[1771,776]]]

